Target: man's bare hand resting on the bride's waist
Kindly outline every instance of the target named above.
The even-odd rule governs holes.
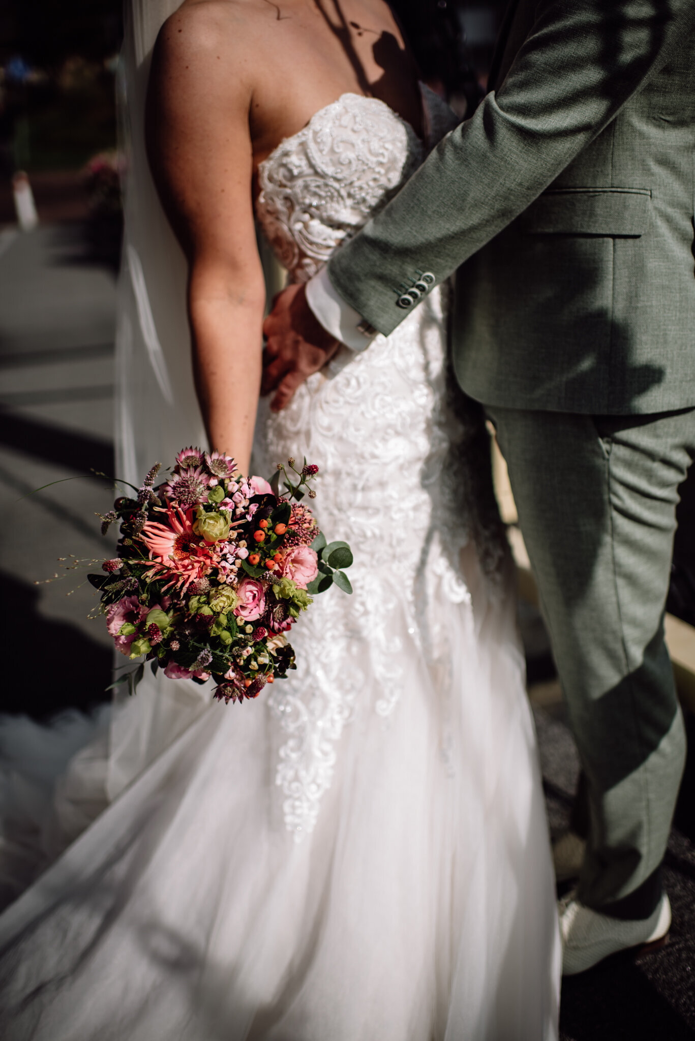
[[[314,314],[303,285],[290,285],[275,297],[263,332],[266,348],[260,393],[274,390],[270,407],[279,412],[290,404],[307,376],[317,373],[333,356],[340,340],[326,332]]]

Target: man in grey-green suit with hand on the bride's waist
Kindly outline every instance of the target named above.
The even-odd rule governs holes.
[[[586,775],[564,971],[656,942],[684,765],[663,612],[695,455],[695,0],[512,0],[476,112],[266,323],[283,407],[455,273]],[[318,321],[317,321],[318,320]]]

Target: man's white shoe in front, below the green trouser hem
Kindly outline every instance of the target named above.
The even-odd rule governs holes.
[[[584,972],[617,950],[663,946],[671,926],[671,905],[664,893],[649,918],[623,921],[592,911],[570,893],[557,905],[563,938],[563,975]]]

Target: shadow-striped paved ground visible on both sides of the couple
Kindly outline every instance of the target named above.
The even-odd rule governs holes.
[[[103,699],[110,682],[110,641],[103,624],[89,619],[96,598],[81,573],[33,582],[52,575],[58,557],[104,552],[94,511],[109,507],[110,489],[94,476],[72,478],[113,472],[114,309],[113,273],[94,262],[79,225],[29,235],[0,229],[5,711],[41,717],[65,705],[86,706]],[[31,493],[51,481],[65,483]],[[559,830],[571,806],[576,756],[543,658],[543,633],[525,621],[533,679],[545,681],[533,700],[549,818]],[[666,861],[671,944],[639,964],[617,958],[568,981],[563,1041],[695,1038],[694,789],[691,762]]]

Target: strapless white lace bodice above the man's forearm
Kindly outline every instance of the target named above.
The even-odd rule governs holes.
[[[423,87],[427,136],[455,123]],[[376,98],[344,94],[286,138],[258,167],[256,214],[294,282],[317,273],[332,251],[391,199],[422,162],[413,128]]]

